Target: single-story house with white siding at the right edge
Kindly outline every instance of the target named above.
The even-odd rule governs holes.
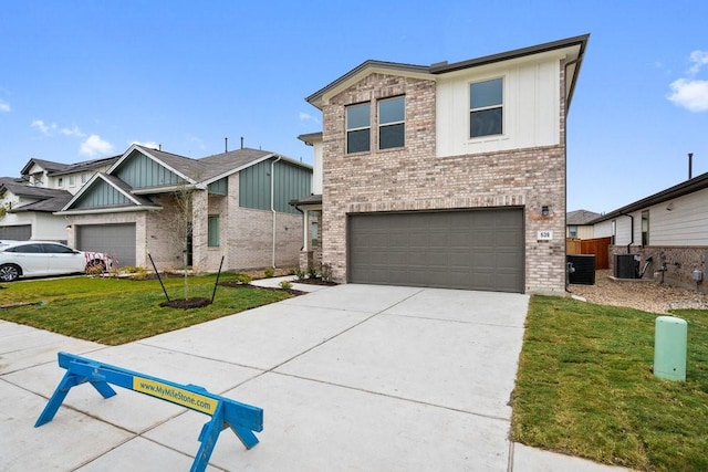
[[[615,273],[617,255],[635,254],[642,269],[650,258],[645,279],[708,293],[706,202],[708,174],[702,174],[595,219],[595,238],[611,238],[610,263]]]

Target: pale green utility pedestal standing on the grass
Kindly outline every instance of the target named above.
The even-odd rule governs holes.
[[[686,319],[659,316],[654,334],[654,377],[686,381]]]

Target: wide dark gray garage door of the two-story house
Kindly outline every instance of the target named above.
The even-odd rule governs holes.
[[[352,214],[353,283],[522,293],[522,209]]]

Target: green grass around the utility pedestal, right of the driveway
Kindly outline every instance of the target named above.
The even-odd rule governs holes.
[[[674,315],[688,322],[686,382],[652,373],[658,315],[533,296],[512,440],[637,470],[708,470],[708,312]]]

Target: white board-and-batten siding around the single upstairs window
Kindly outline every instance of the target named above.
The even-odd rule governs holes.
[[[550,54],[540,64],[491,64],[441,78],[436,90],[437,156],[560,144],[560,61]],[[470,139],[470,84],[499,77],[503,78],[503,134]]]

